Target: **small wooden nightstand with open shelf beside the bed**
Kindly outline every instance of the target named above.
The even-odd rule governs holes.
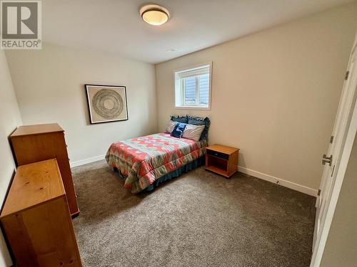
[[[235,147],[210,145],[206,147],[206,169],[229,178],[238,171],[238,152]]]

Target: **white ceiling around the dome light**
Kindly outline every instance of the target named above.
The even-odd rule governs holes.
[[[42,36],[159,63],[351,1],[156,0],[171,19],[151,26],[139,15],[142,0],[43,0]]]

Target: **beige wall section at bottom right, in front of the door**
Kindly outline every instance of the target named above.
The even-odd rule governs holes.
[[[333,214],[333,220],[321,267],[356,266],[357,263],[357,135],[343,178],[341,192]]]

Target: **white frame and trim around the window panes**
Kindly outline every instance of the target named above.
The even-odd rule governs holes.
[[[184,73],[186,71],[194,71],[202,68],[209,68],[209,91],[208,91],[208,106],[200,106],[200,105],[183,105],[184,98],[184,90],[183,83],[181,83],[181,78],[178,76],[180,73]],[[196,80],[197,83],[197,80]],[[196,88],[197,85],[196,85]],[[196,90],[196,94],[199,93],[199,90]],[[195,66],[190,66],[187,68],[181,68],[179,70],[174,70],[174,103],[175,109],[183,109],[183,110],[211,110],[211,95],[212,95],[212,61],[197,64]],[[196,98],[197,99],[197,98]]]

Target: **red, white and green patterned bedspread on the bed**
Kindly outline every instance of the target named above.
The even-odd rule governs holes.
[[[196,142],[159,133],[114,142],[106,152],[106,162],[126,177],[132,193],[143,191],[156,179],[178,169],[206,152],[206,140]]]

